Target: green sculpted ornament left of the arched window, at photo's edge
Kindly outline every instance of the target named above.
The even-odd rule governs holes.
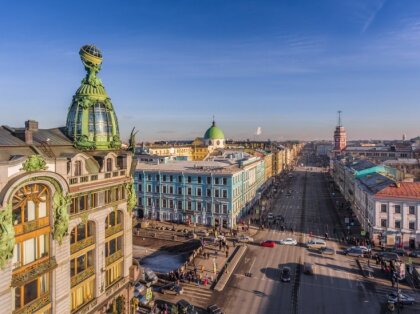
[[[15,246],[15,229],[12,222],[12,205],[0,210],[0,268],[13,257]]]

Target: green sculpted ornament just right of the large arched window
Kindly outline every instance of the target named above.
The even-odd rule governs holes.
[[[67,207],[71,203],[71,198],[65,196],[63,192],[56,191],[53,197],[54,202],[54,240],[61,245],[64,236],[67,235],[69,229],[69,214]]]

